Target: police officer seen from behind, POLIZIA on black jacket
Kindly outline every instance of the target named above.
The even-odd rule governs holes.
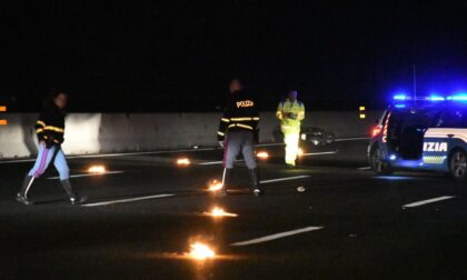
[[[264,194],[259,186],[258,167],[255,159],[254,139],[259,121],[256,100],[244,90],[239,79],[230,82],[230,98],[220,119],[218,141],[223,147],[223,176],[221,196],[230,188],[234,162],[241,152],[250,174],[250,190],[255,196]]]

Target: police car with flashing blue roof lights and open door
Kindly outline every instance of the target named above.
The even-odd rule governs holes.
[[[395,96],[371,131],[367,154],[378,174],[413,169],[467,179],[467,93]]]

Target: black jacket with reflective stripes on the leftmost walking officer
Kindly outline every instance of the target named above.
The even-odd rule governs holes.
[[[46,106],[36,122],[36,132],[39,141],[44,141],[48,148],[61,144],[64,134],[64,112],[53,103]]]

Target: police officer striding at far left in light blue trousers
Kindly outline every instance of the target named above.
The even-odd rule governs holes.
[[[44,103],[43,110],[36,122],[36,132],[39,140],[39,154],[33,168],[24,178],[22,188],[17,196],[17,200],[23,204],[31,204],[28,200],[28,191],[36,178],[39,178],[50,162],[53,161],[56,169],[60,174],[60,182],[67,192],[71,204],[83,201],[71,188],[69,181],[69,168],[64,159],[61,143],[64,134],[64,108],[68,96],[62,91],[54,91]]]

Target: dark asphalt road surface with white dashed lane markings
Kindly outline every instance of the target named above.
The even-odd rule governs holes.
[[[70,206],[50,168],[33,206],[14,200],[29,161],[0,162],[1,279],[466,279],[466,184],[444,174],[376,177],[365,140],[308,148],[297,169],[259,147],[264,197],[242,162],[226,198],[220,150],[71,157]],[[179,167],[187,157],[191,164]],[[107,173],[90,174],[92,164]],[[300,188],[301,187],[301,188]],[[222,208],[229,217],[209,216]],[[192,258],[201,242],[215,258]]]

